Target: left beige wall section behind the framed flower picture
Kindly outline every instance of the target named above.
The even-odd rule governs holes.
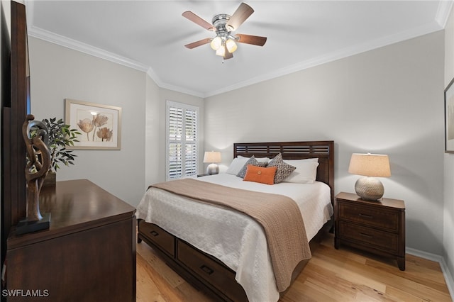
[[[122,108],[121,150],[76,150],[57,180],[89,179],[135,206],[145,187],[146,74],[82,52],[28,38],[31,113],[65,118],[65,99]]]

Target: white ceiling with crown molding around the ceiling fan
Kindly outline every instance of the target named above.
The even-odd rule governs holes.
[[[255,12],[236,33],[267,37],[239,44],[222,62],[209,45],[211,23],[241,1],[25,1],[28,34],[148,72],[157,85],[211,96],[389,45],[445,26],[451,1],[245,1]]]

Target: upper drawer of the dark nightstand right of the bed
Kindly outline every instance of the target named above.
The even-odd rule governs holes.
[[[389,211],[379,207],[363,206],[360,203],[339,203],[339,219],[354,223],[399,232],[399,211]]]

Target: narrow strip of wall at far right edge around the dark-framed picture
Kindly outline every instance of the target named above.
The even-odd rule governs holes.
[[[445,26],[445,86],[454,78],[454,15]],[[454,279],[454,154],[444,155],[443,256]],[[451,289],[454,295],[454,289]]]

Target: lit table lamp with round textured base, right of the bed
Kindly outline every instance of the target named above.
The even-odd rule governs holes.
[[[388,155],[353,153],[348,172],[363,175],[355,183],[355,192],[364,200],[377,201],[384,194],[383,184],[375,177],[390,177]]]

